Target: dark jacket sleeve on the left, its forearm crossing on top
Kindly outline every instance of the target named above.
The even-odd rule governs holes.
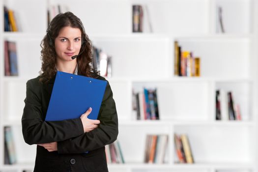
[[[77,137],[84,133],[80,118],[44,121],[39,88],[27,82],[25,107],[22,116],[23,137],[28,144],[51,143]]]

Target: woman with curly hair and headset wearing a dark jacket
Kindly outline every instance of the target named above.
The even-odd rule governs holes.
[[[118,134],[109,84],[98,120],[87,118],[89,108],[80,118],[45,121],[57,70],[105,80],[90,65],[91,43],[81,20],[71,12],[58,14],[41,48],[40,76],[27,82],[22,116],[25,142],[37,144],[34,172],[108,172],[105,145],[113,143]]]

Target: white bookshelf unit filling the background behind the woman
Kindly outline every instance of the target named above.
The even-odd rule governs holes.
[[[29,4],[29,5],[28,5]],[[255,0],[1,0],[19,15],[21,31],[0,28],[0,152],[12,126],[18,164],[0,172],[32,172],[35,145],[24,143],[21,117],[26,82],[40,70],[47,8],[61,4],[82,19],[92,43],[112,56],[109,78],[116,102],[125,164],[110,172],[257,172],[258,2]],[[132,5],[147,6],[153,32],[132,33]],[[222,6],[226,33],[217,30]],[[16,42],[18,77],[4,76],[4,40]],[[173,42],[201,57],[201,77],[176,77]],[[160,120],[136,120],[132,90],[157,87]],[[215,120],[215,91],[233,92],[243,120]],[[173,134],[189,137],[195,164],[178,164]],[[147,134],[169,135],[164,164],[144,164]]]

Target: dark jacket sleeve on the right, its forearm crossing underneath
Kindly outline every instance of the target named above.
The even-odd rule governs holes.
[[[58,153],[83,153],[113,143],[118,135],[118,121],[115,101],[109,83],[101,103],[98,119],[100,124],[94,130],[81,136],[57,143]]]

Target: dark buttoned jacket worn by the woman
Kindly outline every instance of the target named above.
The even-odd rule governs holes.
[[[97,79],[105,80],[101,76]],[[100,124],[84,133],[80,118],[45,121],[54,81],[55,78],[42,84],[37,77],[27,82],[22,116],[24,140],[28,144],[57,142],[58,149],[48,152],[37,146],[34,172],[108,172],[104,146],[113,143],[118,135],[115,101],[109,83],[98,115]]]

